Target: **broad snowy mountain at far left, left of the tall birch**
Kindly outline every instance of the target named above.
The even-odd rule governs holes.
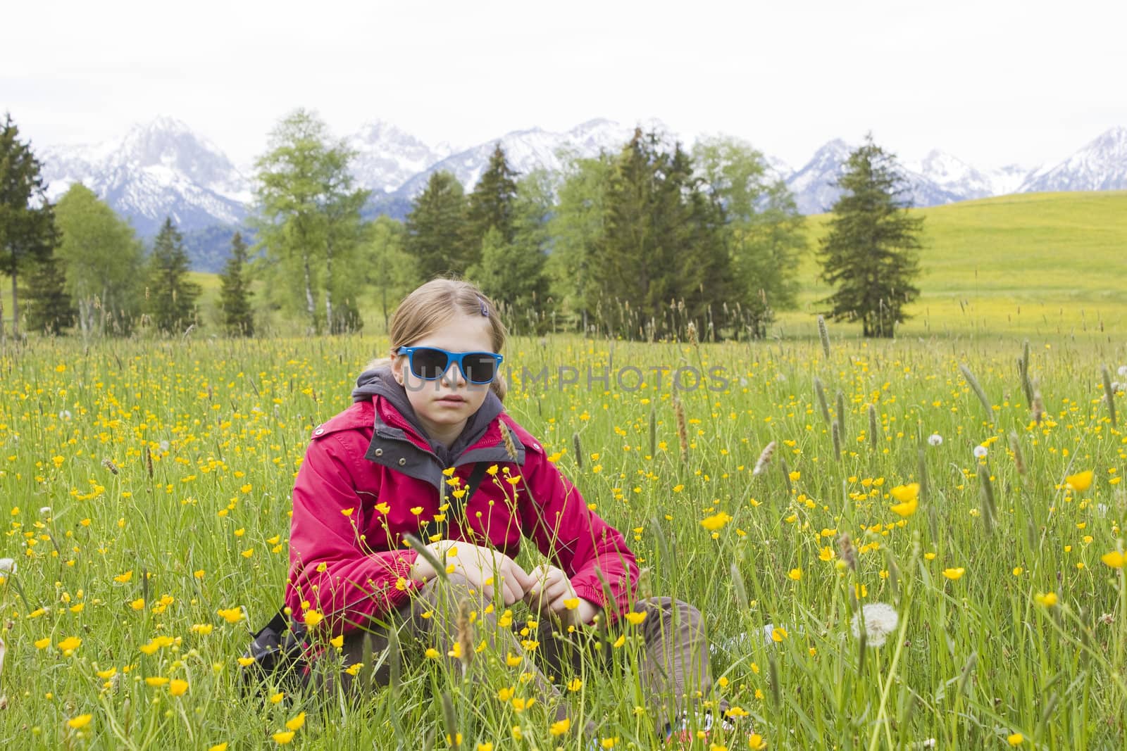
[[[247,215],[246,177],[214,144],[171,117],[135,125],[121,141],[46,149],[41,161],[53,200],[81,181],[132,220],[142,236],[156,234],[166,216],[190,231]]]

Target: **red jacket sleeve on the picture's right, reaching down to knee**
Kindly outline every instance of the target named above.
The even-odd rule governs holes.
[[[517,484],[518,494],[532,491],[518,506],[522,526],[541,554],[567,572],[576,594],[606,608],[612,620],[628,613],[638,564],[622,534],[588,509],[571,481],[542,455],[530,452],[522,468],[527,489]]]

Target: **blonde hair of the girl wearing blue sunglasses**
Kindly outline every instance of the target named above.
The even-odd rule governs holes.
[[[412,341],[429,337],[459,313],[488,319],[492,350],[500,352],[505,347],[508,331],[497,315],[497,306],[477,285],[463,279],[432,279],[403,297],[391,315],[391,327],[388,331],[391,352],[409,346]],[[381,357],[369,363],[367,367],[371,369],[390,363],[391,357]],[[497,399],[504,400],[508,384],[498,373],[489,384],[489,388]]]

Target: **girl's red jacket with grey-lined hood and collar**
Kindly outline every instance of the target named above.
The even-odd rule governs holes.
[[[502,421],[512,432],[515,462]],[[496,466],[496,474],[486,474],[473,497],[463,499],[464,513],[454,515],[453,479],[465,488],[478,462]],[[301,620],[316,609],[340,634],[407,605],[419,584],[409,578],[417,554],[402,536],[428,542],[446,502],[445,537],[488,544],[509,557],[530,537],[567,572],[576,594],[610,606],[611,618],[629,609],[638,566],[622,535],[587,508],[540,442],[508,414],[492,419],[451,464],[447,480],[429,442],[381,395],[314,429],[293,489],[285,597],[293,617]],[[507,477],[520,480],[512,484]]]

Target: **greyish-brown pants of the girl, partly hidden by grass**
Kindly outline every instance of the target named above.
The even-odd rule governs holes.
[[[451,574],[445,581],[435,579],[425,584],[411,604],[401,609],[391,619],[397,629],[399,642],[403,650],[414,651],[416,646],[432,647],[438,652],[441,660],[449,663],[452,671],[474,671],[482,669],[482,662],[490,659],[504,659],[507,654],[525,656],[522,671],[533,677],[538,699],[557,705],[557,718],[567,716],[568,708],[561,700],[561,692],[556,682],[568,673],[578,672],[586,658],[588,664],[594,660],[606,667],[611,662],[612,642],[620,633],[637,632],[644,649],[640,654],[639,678],[642,692],[658,728],[680,716],[687,706],[694,704],[698,697],[707,697],[712,688],[712,679],[708,667],[708,641],[701,614],[696,608],[671,598],[649,598],[639,600],[633,606],[635,613],[645,613],[646,618],[639,625],[625,623],[625,618],[610,634],[601,634],[595,628],[584,627],[573,633],[566,633],[553,623],[552,618],[541,617],[535,631],[521,635],[520,629],[526,623],[514,622],[512,628],[502,627],[497,619],[500,613],[486,613],[489,605],[480,592],[474,592],[469,582],[460,574]],[[470,634],[462,634],[461,647],[480,644],[485,637],[488,647],[482,653],[470,655],[469,665],[462,660],[449,656],[459,642],[459,616],[465,632],[465,616],[476,611],[476,619],[470,626]],[[365,647],[365,640],[369,642]],[[535,641],[535,649],[529,651],[522,645],[524,641]],[[595,650],[596,643],[602,646]],[[356,631],[345,638],[344,664],[363,662],[365,649],[369,654],[380,658],[389,646],[388,631],[375,627],[369,631]],[[586,647],[586,649],[584,649]],[[362,676],[365,673],[361,673]],[[384,662],[379,670],[371,673],[375,686],[385,686],[390,679],[390,665]],[[336,691],[339,686],[346,694],[360,692],[360,681],[347,672],[327,676],[323,670],[314,667],[313,683],[321,690]],[[591,732],[593,726],[586,728]]]

